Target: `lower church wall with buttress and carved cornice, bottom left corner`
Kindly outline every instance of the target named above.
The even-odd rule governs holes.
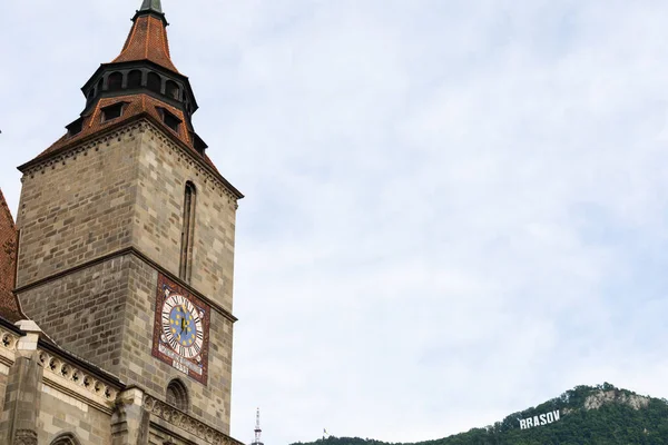
[[[71,434],[81,445],[110,445],[120,386],[43,349],[37,325],[21,325],[31,329],[21,335],[0,323],[0,443],[50,444]]]

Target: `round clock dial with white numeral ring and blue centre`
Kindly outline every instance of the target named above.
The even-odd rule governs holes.
[[[204,343],[204,310],[183,295],[171,294],[165,298],[161,316],[164,342],[181,357],[198,357]]]

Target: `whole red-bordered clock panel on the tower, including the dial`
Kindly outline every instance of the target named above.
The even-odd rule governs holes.
[[[210,307],[158,274],[153,356],[207,384]]]

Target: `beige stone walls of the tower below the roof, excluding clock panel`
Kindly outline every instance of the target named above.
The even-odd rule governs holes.
[[[23,170],[18,296],[59,346],[229,432],[236,197],[148,121],[129,123]],[[178,276],[185,185],[197,189],[189,285],[210,319],[208,385],[153,357],[157,267]],[[159,265],[159,266],[157,266]]]

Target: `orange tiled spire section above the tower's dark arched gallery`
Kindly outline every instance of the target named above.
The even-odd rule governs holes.
[[[114,62],[150,60],[168,70],[178,72],[169,55],[169,41],[165,22],[153,16],[139,16],[135,19],[126,44]]]

